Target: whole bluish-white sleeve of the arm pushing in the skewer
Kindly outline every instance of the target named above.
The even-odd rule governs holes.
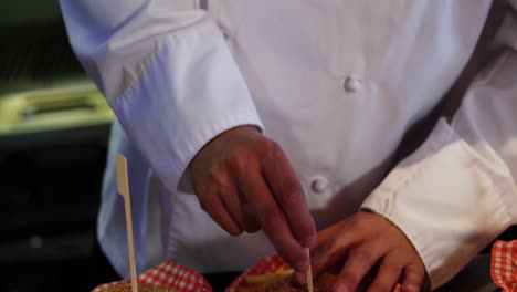
[[[170,191],[218,134],[262,128],[223,34],[197,2],[60,0],[75,54]]]

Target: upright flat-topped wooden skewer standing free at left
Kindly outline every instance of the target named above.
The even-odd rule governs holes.
[[[131,291],[138,292],[136,264],[135,264],[135,248],[133,242],[133,223],[131,223],[131,201],[129,198],[129,179],[127,176],[127,160],[122,154],[116,156],[117,167],[117,191],[124,197],[124,206],[126,209],[126,228],[127,228],[127,244],[129,247],[129,269],[131,272]]]

